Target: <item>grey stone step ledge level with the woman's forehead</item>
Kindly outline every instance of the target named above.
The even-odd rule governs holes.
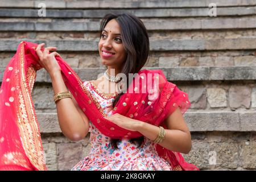
[[[255,14],[254,14],[255,15]],[[143,19],[148,31],[177,30],[226,30],[256,28],[256,16],[222,17],[222,18],[175,18]],[[100,20],[51,19],[39,22],[38,19],[9,19],[0,22],[0,31],[98,31]]]

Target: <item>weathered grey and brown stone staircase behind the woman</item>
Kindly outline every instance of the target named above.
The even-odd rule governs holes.
[[[38,4],[46,4],[46,17]],[[217,17],[210,17],[216,3]],[[97,52],[100,19],[109,12],[141,18],[150,36],[149,69],[162,69],[187,92],[192,134],[189,162],[201,170],[256,168],[256,0],[0,2],[0,80],[22,40],[55,46],[83,80],[104,72]],[[47,166],[71,169],[88,155],[89,136],[71,142],[60,131],[51,80],[38,72],[32,97]]]

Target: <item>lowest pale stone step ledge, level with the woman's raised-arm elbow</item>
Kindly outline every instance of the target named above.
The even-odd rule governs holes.
[[[60,133],[56,113],[37,113],[41,133]],[[256,131],[255,111],[187,111],[190,131]]]

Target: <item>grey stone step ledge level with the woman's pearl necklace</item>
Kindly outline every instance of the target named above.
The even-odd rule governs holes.
[[[256,67],[170,67],[147,68],[161,69],[170,81],[245,81],[256,80]],[[0,68],[0,80],[5,68]],[[105,68],[74,68],[81,80],[96,80]],[[51,83],[48,73],[41,69],[37,72],[36,82]]]

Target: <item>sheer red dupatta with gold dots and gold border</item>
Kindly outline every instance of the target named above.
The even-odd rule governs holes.
[[[0,89],[0,170],[47,169],[38,119],[31,97],[36,71],[42,68],[37,61],[35,49],[32,48],[36,46],[34,43],[21,42],[3,75]],[[102,134],[115,139],[142,136],[141,133],[123,129],[105,119],[106,115],[100,104],[86,90],[76,72],[61,57],[56,57],[56,60],[60,65],[65,85],[85,115]],[[144,82],[146,80],[150,80],[155,89],[149,89],[152,92],[141,93],[147,88]],[[132,88],[133,92],[121,96],[113,114],[119,113],[166,128],[164,119],[177,107],[184,113],[190,106],[187,93],[168,82],[162,71],[140,71],[132,83],[129,88]],[[133,89],[134,85],[137,85],[137,89]],[[152,94],[155,96],[148,97]],[[193,164],[186,163],[179,152],[167,150],[159,144],[155,144],[155,148],[159,156],[170,163],[172,169],[199,170]]]

